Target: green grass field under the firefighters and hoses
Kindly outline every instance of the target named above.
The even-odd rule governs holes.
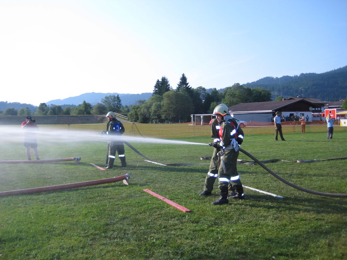
[[[347,193],[346,132],[246,135],[242,148],[284,179],[321,192]],[[207,144],[209,137],[173,140]],[[160,163],[209,163],[207,145],[131,142]],[[104,142],[41,142],[41,159],[81,157],[81,163],[0,164],[0,191],[43,187],[130,174],[130,185],[110,184],[0,198],[0,259],[346,259],[347,198],[291,188],[259,165],[238,165],[246,199],[213,206],[200,197],[208,165],[161,166],[129,147],[128,167],[101,171]],[[0,160],[24,160],[22,143],[0,147]],[[251,161],[244,154],[239,159]],[[295,162],[294,162],[295,161]],[[184,213],[144,192],[152,190],[190,210]]]

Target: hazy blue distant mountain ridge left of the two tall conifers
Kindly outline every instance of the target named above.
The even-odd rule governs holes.
[[[91,105],[95,105],[97,103],[101,103],[101,99],[105,96],[109,95],[119,95],[122,105],[134,105],[137,100],[147,100],[152,96],[152,93],[142,93],[142,94],[119,94],[119,93],[85,93],[76,97],[68,97],[64,99],[54,99],[46,102],[46,105],[79,105],[82,104],[83,101],[90,103]]]

